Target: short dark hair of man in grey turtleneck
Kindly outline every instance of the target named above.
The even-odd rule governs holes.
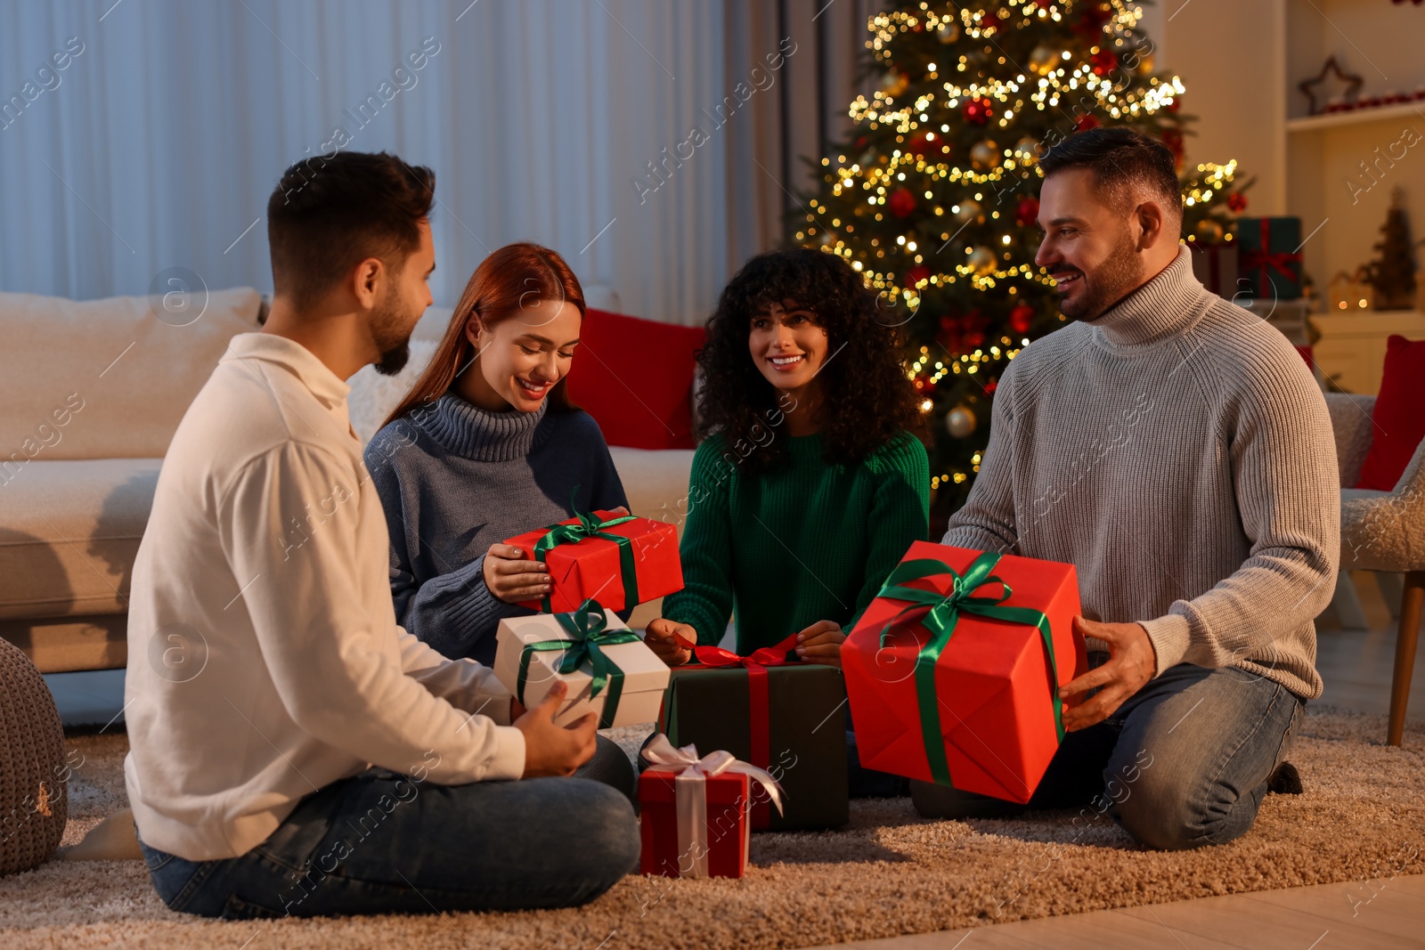
[[[1057,142],[1039,161],[1047,178],[1064,168],[1087,168],[1100,197],[1114,209],[1127,212],[1147,191],[1164,204],[1171,216],[1181,216],[1183,192],[1177,181],[1177,160],[1161,141],[1123,125],[1074,132]]]

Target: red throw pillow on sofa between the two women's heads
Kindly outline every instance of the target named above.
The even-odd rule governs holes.
[[[693,447],[694,353],[707,330],[590,309],[579,330],[569,397],[610,446]]]

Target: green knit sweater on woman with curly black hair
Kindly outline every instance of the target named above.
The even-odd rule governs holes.
[[[929,533],[931,466],[902,432],[859,464],[831,464],[821,436],[785,437],[760,476],[721,436],[698,446],[683,530],[684,587],[664,617],[717,644],[730,614],[737,652],[771,647],[819,620],[851,630],[911,541]]]

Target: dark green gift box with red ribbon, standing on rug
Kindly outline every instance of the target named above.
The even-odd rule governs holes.
[[[841,671],[788,661],[797,637],[748,657],[697,647],[668,679],[658,729],[674,745],[727,749],[785,789],[781,813],[752,789],[752,830],[839,828],[846,802],[846,702]]]

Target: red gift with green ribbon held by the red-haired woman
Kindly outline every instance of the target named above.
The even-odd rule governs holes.
[[[678,530],[613,511],[576,517],[504,541],[549,565],[554,588],[520,607],[567,614],[586,600],[620,611],[683,590]]]

